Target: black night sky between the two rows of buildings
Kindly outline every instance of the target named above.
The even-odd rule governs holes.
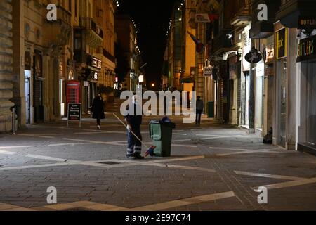
[[[147,84],[159,85],[162,72],[166,31],[175,0],[119,0],[119,14],[130,14],[138,30],[138,46],[142,54]]]

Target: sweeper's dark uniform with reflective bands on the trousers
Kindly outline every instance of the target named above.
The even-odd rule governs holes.
[[[132,131],[140,140],[142,139],[142,135],[140,133],[140,124],[143,122],[143,115],[142,115],[142,107],[137,103],[133,103],[134,113],[133,115],[126,115],[125,119],[128,124],[131,125]],[[140,115],[137,115],[137,112]],[[140,155],[142,152],[142,143],[136,139],[136,136],[132,134],[131,131],[127,131],[127,157],[131,157],[133,155]]]

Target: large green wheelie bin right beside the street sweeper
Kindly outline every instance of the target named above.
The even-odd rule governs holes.
[[[171,156],[172,130],[176,128],[173,122],[150,122],[150,139],[154,146],[154,155],[158,157]]]

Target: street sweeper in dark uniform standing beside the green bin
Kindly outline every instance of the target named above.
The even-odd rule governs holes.
[[[126,157],[133,160],[142,160],[142,135],[140,133],[140,125],[143,122],[143,109],[140,103],[138,103],[138,97],[133,96],[132,104],[133,113],[129,113],[125,116],[125,122],[127,124],[127,155]],[[129,109],[128,109],[129,110]],[[131,115],[132,114],[132,115]],[[136,138],[138,137],[138,139]]]

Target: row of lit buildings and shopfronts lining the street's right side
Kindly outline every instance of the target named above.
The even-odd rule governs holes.
[[[171,23],[164,81],[166,76],[169,84],[178,79],[176,64],[170,62],[176,57],[174,42],[182,41],[180,89],[197,91],[209,117],[262,136],[272,131],[273,143],[287,150],[315,149],[316,2],[178,4],[182,38],[176,39],[176,23]],[[196,51],[187,32],[202,42],[204,51]],[[211,76],[205,68],[212,68]]]

